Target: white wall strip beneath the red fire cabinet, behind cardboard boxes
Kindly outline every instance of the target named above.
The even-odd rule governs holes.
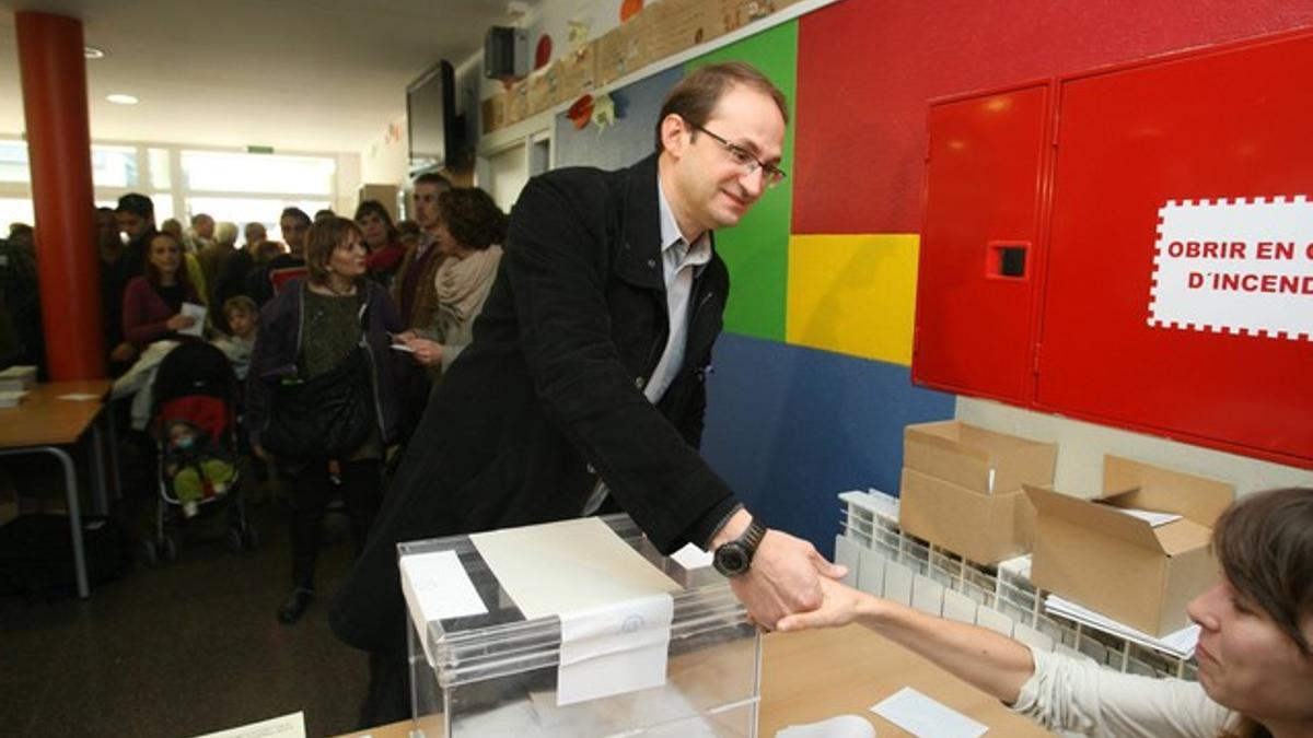
[[[1095,495],[1103,483],[1103,454],[1148,461],[1167,469],[1236,485],[1238,495],[1289,486],[1313,486],[1313,471],[1033,412],[993,401],[957,398],[956,418],[991,431],[1058,444],[1054,487],[1079,496]]]

